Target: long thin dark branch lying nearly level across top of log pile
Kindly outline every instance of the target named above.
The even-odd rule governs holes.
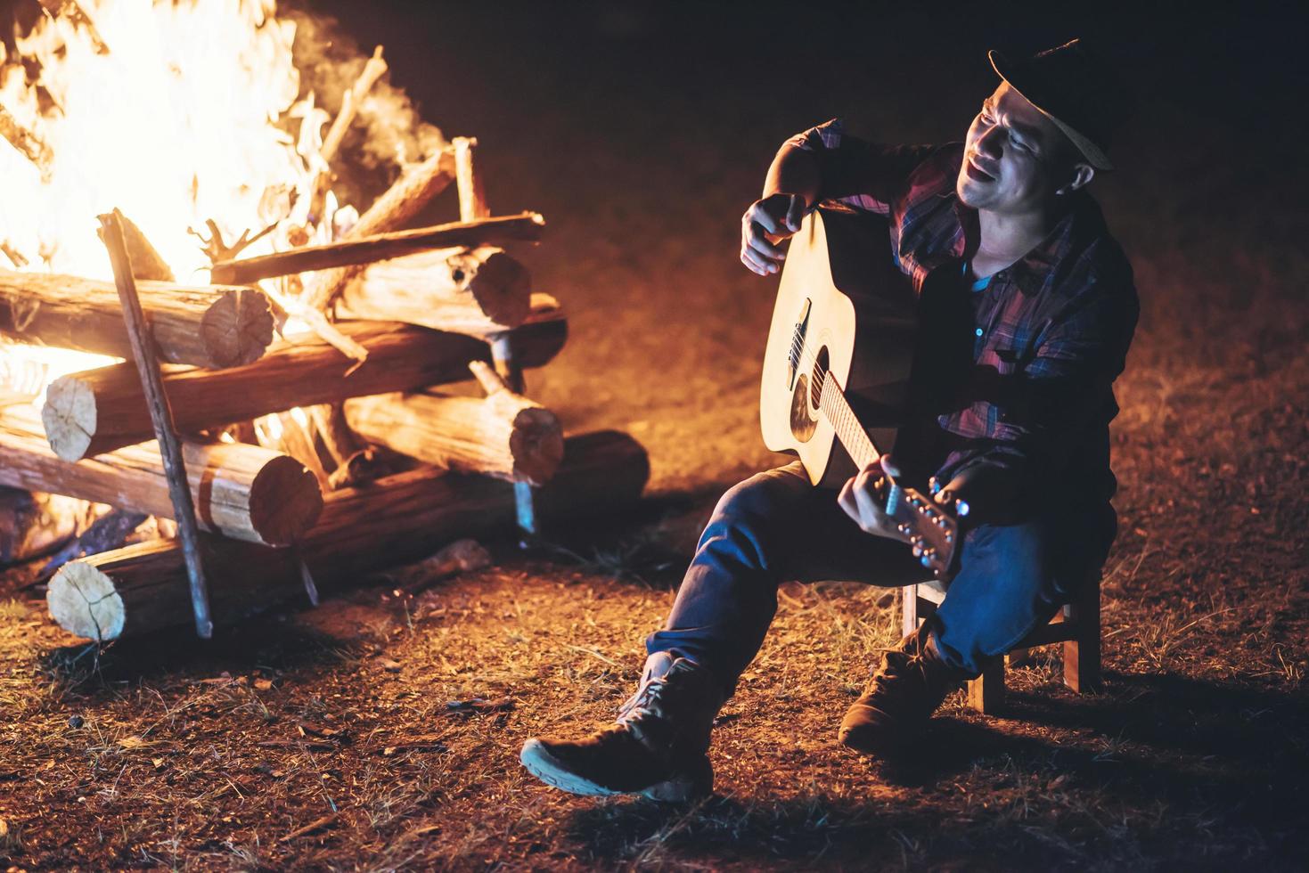
[[[241,260],[220,260],[213,264],[211,277],[216,284],[245,284],[297,272],[368,264],[431,249],[473,247],[509,240],[535,241],[541,238],[545,226],[546,219],[539,212],[524,212],[378,233],[370,237],[352,234],[348,240],[325,242],[321,246],[301,246]]]

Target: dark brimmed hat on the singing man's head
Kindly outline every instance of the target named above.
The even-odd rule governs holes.
[[[1131,94],[1080,39],[1011,63],[987,52],[1000,79],[1055,123],[1097,170],[1111,170],[1109,139],[1131,109]]]

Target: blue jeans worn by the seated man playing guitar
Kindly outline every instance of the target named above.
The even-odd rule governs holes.
[[[975,677],[1094,577],[1114,539],[1109,504],[982,525],[962,543],[959,572],[937,610],[936,648]],[[728,490],[713,509],[649,654],[702,664],[730,695],[778,609],[783,580],[855,580],[899,586],[929,573],[902,542],[860,530],[836,493],[810,486],[800,462]]]

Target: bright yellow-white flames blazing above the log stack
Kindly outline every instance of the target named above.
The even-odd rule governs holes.
[[[45,7],[58,14],[14,33],[12,52],[0,45],[0,266],[111,279],[96,216],[117,207],[179,283],[206,284],[213,249],[202,242],[215,228],[230,245],[271,226],[245,257],[330,242],[357,220],[326,185],[331,116],[302,93],[297,22],[279,20],[275,0]],[[327,42],[318,22],[306,26],[322,41],[298,46],[314,63]],[[377,128],[416,131],[424,147],[440,140],[402,92],[380,85],[368,111],[393,118]],[[421,157],[404,151],[394,145],[390,160]],[[288,284],[270,287],[293,292]],[[51,380],[114,360],[22,355],[35,355]]]

